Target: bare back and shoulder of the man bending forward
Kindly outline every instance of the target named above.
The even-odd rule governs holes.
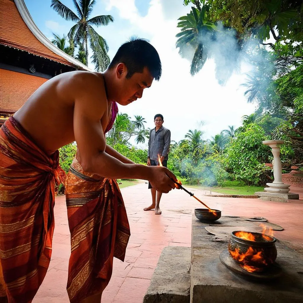
[[[68,72],[52,78],[40,86],[15,113],[14,118],[32,136],[36,144],[51,154],[61,146],[75,141],[75,100],[85,92],[85,98],[100,102],[103,130],[108,123],[110,102],[106,98],[101,73]],[[98,96],[96,98],[96,96]],[[55,119],[54,119],[55,118]],[[35,121],[35,123],[33,123]]]

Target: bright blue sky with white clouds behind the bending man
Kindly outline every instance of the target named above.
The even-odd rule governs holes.
[[[72,0],[61,2],[75,12]],[[50,0],[25,0],[25,4],[38,28],[49,39],[52,32],[67,34],[73,25],[50,7]],[[208,60],[194,77],[190,75],[190,61],[182,59],[175,48],[178,18],[189,11],[190,6],[185,7],[182,0],[96,0],[92,13],[92,17],[112,15],[115,19],[106,27],[96,28],[108,42],[110,58],[132,35],[149,39],[158,50],[163,69],[160,81],[154,81],[142,99],[120,106],[119,110],[132,117],[142,115],[147,127],[153,127],[154,115],[161,113],[175,141],[183,139],[189,129],[201,129],[207,139],[228,125],[238,127],[241,117],[251,114],[255,108],[247,103],[243,95],[245,88],[241,86],[248,65],[242,64],[241,72],[233,74],[225,86],[215,79],[213,60]]]

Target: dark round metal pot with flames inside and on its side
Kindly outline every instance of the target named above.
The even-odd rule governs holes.
[[[277,258],[276,241],[276,238],[259,232],[233,231],[228,251],[246,271],[264,271]]]

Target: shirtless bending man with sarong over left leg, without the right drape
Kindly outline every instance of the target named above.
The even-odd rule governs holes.
[[[49,265],[58,148],[76,141],[86,172],[148,180],[164,193],[175,188],[167,168],[128,164],[104,136],[111,102],[136,101],[160,76],[157,51],[136,39],[119,48],[103,74],[76,71],[48,80],[0,129],[0,296],[9,303],[31,302]]]

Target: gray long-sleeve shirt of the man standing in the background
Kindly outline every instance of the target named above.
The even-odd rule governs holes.
[[[161,126],[156,132],[156,128],[150,132],[148,140],[147,156],[151,160],[158,161],[158,155],[163,156],[164,160],[168,160],[170,147],[170,130]]]

